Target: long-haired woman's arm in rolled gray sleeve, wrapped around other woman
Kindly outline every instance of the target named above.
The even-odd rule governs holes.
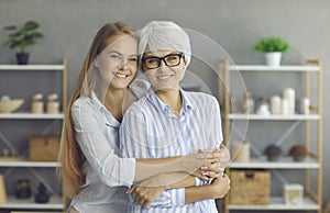
[[[201,153],[185,157],[174,157],[164,159],[138,159],[121,158],[116,155],[116,150],[109,142],[105,132],[110,128],[106,125],[105,115],[92,104],[92,99],[86,98],[75,102],[72,109],[75,136],[79,144],[84,157],[98,175],[100,180],[109,186],[131,186],[152,176],[163,172],[184,171],[193,173],[202,164],[219,161],[219,154],[211,155]],[[198,172],[201,176],[201,172]],[[197,175],[198,175],[197,173]]]

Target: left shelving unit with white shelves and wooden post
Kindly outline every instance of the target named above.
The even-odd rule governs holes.
[[[53,81],[52,83],[56,85],[56,89],[59,88],[59,90],[56,92],[59,93],[62,109],[61,109],[61,113],[56,113],[56,114],[47,114],[46,112],[42,114],[34,114],[31,113],[30,110],[26,108],[23,109],[23,111],[19,110],[19,112],[0,113],[0,121],[2,125],[7,126],[6,130],[0,131],[0,136],[1,136],[0,142],[4,143],[4,145],[9,144],[10,146],[14,146],[12,144],[15,145],[20,144],[26,147],[26,144],[24,144],[26,138],[20,138],[20,139],[15,138],[15,141],[12,142],[8,139],[9,137],[12,136],[12,131],[8,131],[10,130],[8,126],[12,126],[12,128],[14,128],[15,126],[13,125],[20,126],[24,122],[28,123],[26,125],[29,125],[30,131],[34,128],[38,128],[34,131],[34,134],[35,132],[42,132],[38,134],[45,136],[48,134],[54,134],[54,132],[56,132],[56,134],[61,134],[61,131],[58,130],[62,130],[62,123],[64,119],[63,112],[65,112],[66,100],[67,100],[66,59],[63,59],[63,63],[58,65],[0,65],[0,76],[1,75],[4,75],[7,77],[12,75],[15,77],[20,76],[20,78],[29,77],[28,78],[29,80],[31,80],[31,75],[32,76],[35,75],[36,79],[33,82],[24,83],[24,87],[29,87],[29,83],[33,83],[33,86],[31,87],[41,87],[41,88],[47,87],[47,85],[43,83],[42,80],[43,78],[48,77],[48,75],[51,75],[50,78],[51,81]],[[46,76],[40,77],[38,75],[46,75]],[[12,78],[12,80],[14,78]],[[40,81],[37,79],[40,79]],[[58,82],[61,83],[59,86],[57,86]],[[10,85],[14,82],[6,81],[6,83]],[[10,91],[7,91],[7,94],[10,96]],[[22,96],[24,96],[23,98],[25,100],[31,99],[31,97],[26,96],[26,92],[25,93],[22,92]],[[53,131],[54,126],[56,126],[56,130]],[[40,128],[42,131],[40,131]],[[28,136],[32,136],[32,135],[29,135],[28,133]],[[24,141],[24,143],[22,144],[21,141]],[[4,181],[7,184],[6,188],[7,189],[13,188],[13,186],[8,186],[8,181],[9,182],[12,181],[10,179],[13,176],[13,173],[14,177],[16,178],[20,177],[21,179],[25,179],[25,175],[28,173],[30,175],[30,177],[33,177],[35,181],[45,183],[45,187],[48,189],[48,192],[51,192],[50,202],[35,203],[33,199],[34,193],[32,193],[32,198],[30,199],[16,199],[11,191],[7,194],[7,203],[0,204],[0,212],[1,210],[18,211],[18,212],[20,211],[61,211],[62,212],[64,210],[64,203],[65,203],[62,197],[62,189],[53,189],[53,186],[55,183],[53,182],[54,180],[57,180],[58,181],[57,186],[58,184],[61,186],[59,179],[56,178],[56,169],[61,167],[61,164],[57,161],[29,161],[26,159],[26,152],[20,153],[20,156],[21,155],[22,157],[18,158],[16,160],[11,160],[11,158],[6,160],[0,160],[0,169],[4,177]],[[54,176],[52,177],[51,180],[47,180],[47,177],[50,178],[50,176],[46,176],[45,178],[44,176],[40,175],[40,172],[42,173],[45,170],[46,171],[51,170],[52,172],[54,172]],[[20,173],[20,172],[24,172],[24,173]],[[10,184],[12,184],[12,182],[10,182]]]

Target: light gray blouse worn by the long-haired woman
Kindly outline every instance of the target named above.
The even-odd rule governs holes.
[[[136,80],[130,87],[138,97],[150,87]],[[128,187],[133,183],[135,159],[121,158],[118,122],[92,92],[80,97],[72,108],[76,139],[86,157],[86,183],[72,200],[80,213],[118,213],[128,208]]]

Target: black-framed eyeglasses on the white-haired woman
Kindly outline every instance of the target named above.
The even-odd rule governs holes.
[[[164,57],[150,56],[142,58],[142,64],[147,69],[155,69],[161,66],[163,60],[167,67],[176,67],[182,63],[183,57],[185,57],[184,53],[168,54]]]

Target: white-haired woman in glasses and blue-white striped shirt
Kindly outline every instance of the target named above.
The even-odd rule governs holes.
[[[151,88],[124,114],[120,127],[123,156],[164,158],[188,155],[200,148],[220,148],[222,132],[217,99],[179,88],[191,55],[187,33],[173,22],[154,21],[139,35],[141,68]],[[222,169],[229,162],[229,155],[226,157],[224,165],[220,165]],[[209,183],[201,182],[206,186],[186,190],[156,184],[133,187],[130,193],[135,202],[130,211],[217,213],[213,199],[228,192],[230,181],[226,175],[213,180],[220,190],[218,194],[209,190]],[[155,195],[143,195],[152,193]]]

